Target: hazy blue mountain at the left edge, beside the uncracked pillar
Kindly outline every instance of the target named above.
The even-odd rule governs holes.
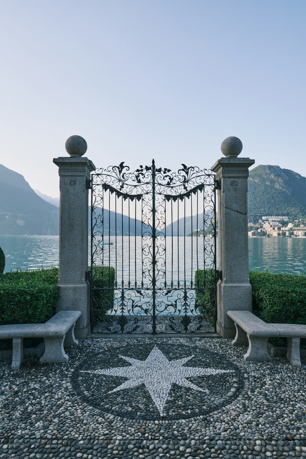
[[[59,234],[59,208],[45,202],[21,174],[2,164],[0,164],[0,234]]]

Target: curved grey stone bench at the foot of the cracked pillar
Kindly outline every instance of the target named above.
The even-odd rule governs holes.
[[[267,362],[272,357],[267,352],[267,342],[272,337],[287,338],[287,359],[293,367],[300,368],[300,338],[306,337],[306,325],[267,324],[250,311],[228,311],[228,317],[234,320],[236,336],[234,346],[248,346],[243,356],[251,362]]]

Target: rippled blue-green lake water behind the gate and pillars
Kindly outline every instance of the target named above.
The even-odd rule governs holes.
[[[0,247],[6,255],[5,272],[17,268],[37,269],[42,266],[57,266],[58,265],[58,236],[1,236]],[[119,241],[122,238],[117,238],[117,252],[121,251]],[[139,239],[139,241],[138,241]],[[196,239],[198,239],[198,261],[199,268],[203,268],[203,241],[202,238],[186,238],[185,253],[184,253],[184,238],[175,238],[176,242],[173,246],[173,269],[171,270],[171,244],[170,238],[167,237],[167,267],[170,269],[167,274],[177,277],[179,280],[184,278],[190,279],[194,275],[197,267],[196,260]],[[193,240],[193,241],[191,241]],[[133,245],[134,244],[134,245]],[[191,266],[191,244],[193,245],[193,257]],[[105,264],[110,263],[116,265],[116,247],[105,246]],[[140,237],[136,238],[136,257],[138,264],[136,271],[140,272],[141,267],[141,242]],[[135,243],[132,242],[128,247],[128,237],[123,237],[124,252],[130,252],[132,260],[135,253]],[[134,252],[133,252],[134,251]],[[179,252],[179,256],[178,253]],[[89,250],[90,254],[90,250]],[[90,260],[90,256],[89,256]],[[126,258],[124,257],[124,260]],[[132,263],[131,263],[132,265]],[[124,277],[127,275],[128,264],[123,262]],[[179,266],[180,272],[178,272]],[[185,273],[184,273],[185,266]],[[249,266],[250,269],[263,271],[268,269],[275,273],[300,274],[306,272],[306,238],[249,238]],[[122,272],[122,262],[117,257],[117,271]],[[135,269],[130,266],[130,276],[133,277]],[[178,280],[176,279],[176,280]],[[173,279],[174,280],[174,279]]]

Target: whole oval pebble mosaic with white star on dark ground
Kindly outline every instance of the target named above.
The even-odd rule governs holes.
[[[74,371],[73,386],[103,414],[187,419],[230,404],[243,378],[230,360],[200,347],[122,342],[86,359]]]

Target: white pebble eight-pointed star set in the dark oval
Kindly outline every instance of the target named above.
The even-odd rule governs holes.
[[[194,355],[169,361],[158,347],[154,347],[145,360],[137,360],[136,358],[124,357],[123,355],[119,357],[123,358],[131,365],[128,367],[83,370],[82,373],[123,376],[128,378],[128,381],[124,381],[123,384],[108,393],[145,384],[161,416],[164,414],[164,407],[173,383],[178,386],[191,387],[197,391],[209,393],[209,391],[196,386],[186,378],[191,376],[231,373],[233,371],[214,368],[184,367],[183,365],[193,358]]]

